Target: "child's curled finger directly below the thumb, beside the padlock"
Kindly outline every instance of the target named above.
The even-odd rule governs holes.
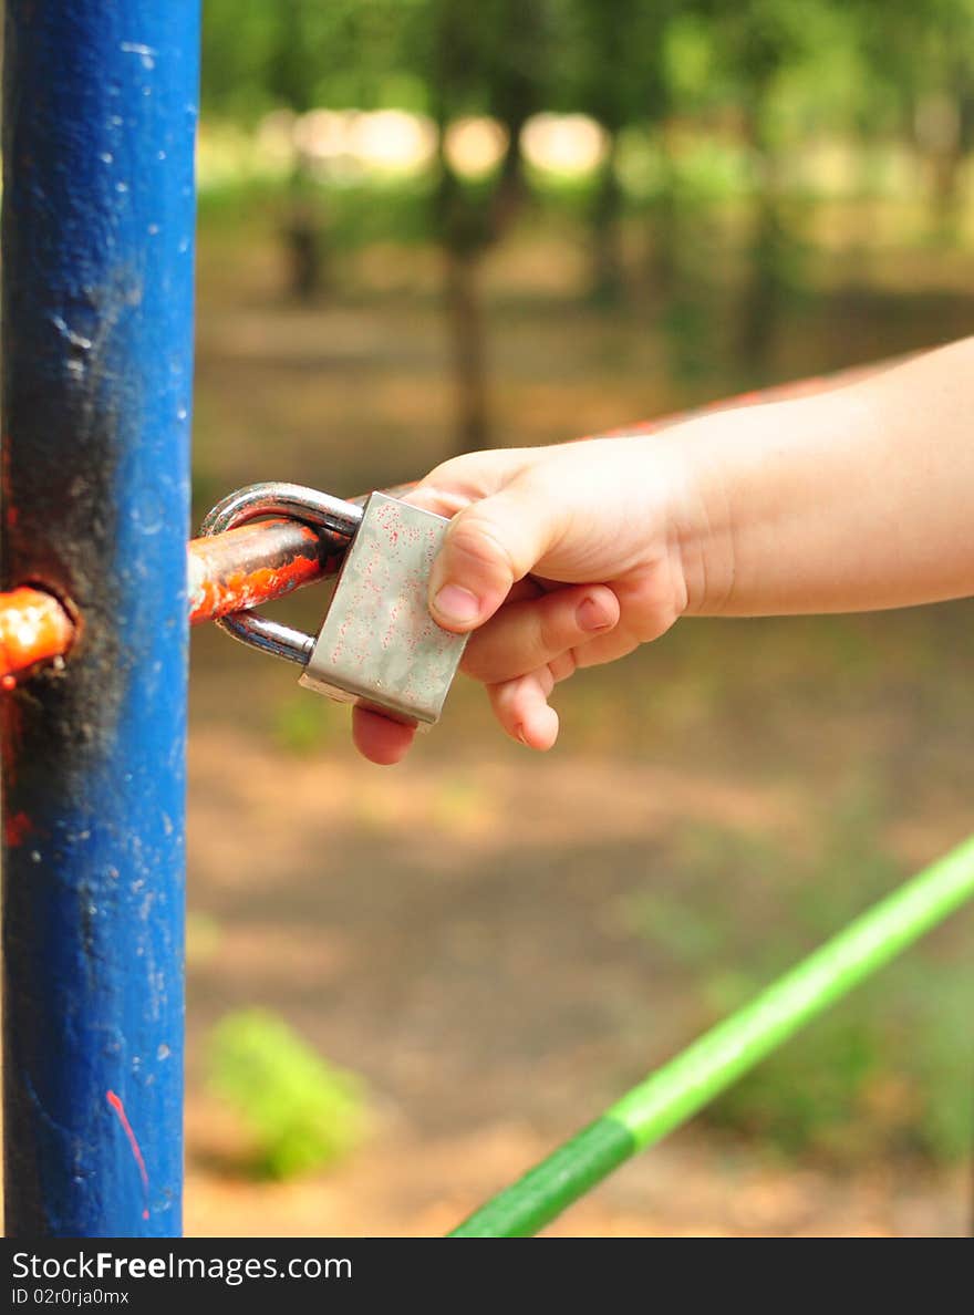
[[[619,621],[607,585],[572,585],[540,597],[507,602],[467,646],[463,669],[485,684],[538,671]]]

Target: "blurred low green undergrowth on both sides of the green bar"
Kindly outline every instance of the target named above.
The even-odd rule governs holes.
[[[639,890],[622,918],[703,984],[703,1016],[716,1022],[906,876],[883,847],[881,821],[881,801],[860,785],[804,848],[687,826],[676,840],[680,893]],[[697,886],[726,889],[727,899],[694,897]],[[848,1164],[900,1151],[956,1161],[971,1148],[971,993],[970,964],[921,947],[803,1028],[705,1118],[785,1155]]]

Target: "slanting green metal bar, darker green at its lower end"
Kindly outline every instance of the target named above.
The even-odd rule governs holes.
[[[974,897],[974,836],[825,942],[601,1119],[481,1206],[453,1237],[528,1237],[660,1141],[782,1041]]]

